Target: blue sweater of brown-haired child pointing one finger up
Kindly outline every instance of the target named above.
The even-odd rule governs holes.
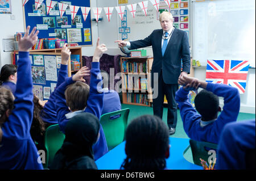
[[[100,63],[92,62],[92,69],[90,69],[90,92],[89,98],[87,100],[87,106],[85,108],[85,112],[93,113],[100,120],[102,107],[103,107],[103,99],[104,94],[97,91],[98,83],[101,82],[102,79],[97,79],[97,75],[100,74]],[[70,110],[65,102],[64,92],[68,85],[75,83],[72,80],[72,77],[68,77],[65,79],[65,82],[61,83],[59,87],[55,90],[55,102],[57,108],[57,120],[59,123],[60,131],[65,133],[65,126],[67,124],[66,114],[70,113]],[[100,86],[100,85],[99,85]],[[102,157],[102,155],[108,153],[108,145],[106,143],[106,138],[104,131],[100,125],[100,138],[93,145],[94,159]]]

